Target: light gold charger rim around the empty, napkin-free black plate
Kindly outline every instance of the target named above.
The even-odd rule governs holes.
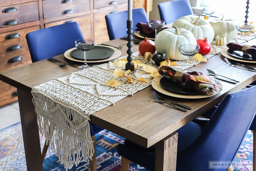
[[[96,46],[103,46],[103,45],[96,45]],[[115,51],[115,53],[112,56],[110,56],[109,58],[106,58],[106,59],[102,59],[102,60],[87,60],[86,62],[87,63],[106,62],[106,61],[110,61],[110,60],[113,60],[113,59],[118,58],[119,56],[121,56],[121,51],[119,49],[111,47],[111,46],[104,46],[104,47],[108,47],[108,48],[113,49]],[[73,56],[70,55],[70,52],[72,50],[74,50],[74,49],[76,49],[76,48],[71,48],[71,49],[67,50],[64,53],[65,58],[67,58],[69,60],[72,60],[72,61],[76,61],[76,62],[84,62],[84,60],[79,60],[79,59],[74,58]]]

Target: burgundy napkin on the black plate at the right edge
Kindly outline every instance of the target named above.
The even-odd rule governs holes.
[[[251,46],[250,48],[248,48],[248,46],[245,45],[244,48],[243,48],[243,45],[241,45],[241,44],[238,44],[238,43],[228,43],[227,47],[230,50],[242,51],[242,52],[244,52],[246,54],[251,55],[253,59],[256,59],[256,46],[255,45]]]

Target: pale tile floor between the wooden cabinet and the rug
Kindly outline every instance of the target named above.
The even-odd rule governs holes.
[[[18,101],[0,106],[0,130],[20,122]]]

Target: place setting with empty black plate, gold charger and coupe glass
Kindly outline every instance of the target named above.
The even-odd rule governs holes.
[[[72,61],[83,62],[84,64],[79,67],[80,69],[87,68],[87,63],[106,62],[121,56],[119,48],[109,45],[95,45],[95,41],[91,39],[77,40],[74,45],[76,47],[67,50],[64,56]]]

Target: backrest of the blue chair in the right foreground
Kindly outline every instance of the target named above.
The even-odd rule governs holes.
[[[177,163],[186,161],[190,170],[199,171],[208,170],[209,161],[232,161],[255,117],[255,101],[256,86],[227,94],[198,139],[178,154]]]

